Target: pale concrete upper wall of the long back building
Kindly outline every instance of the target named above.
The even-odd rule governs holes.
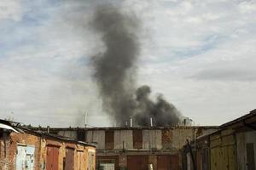
[[[133,129],[141,129],[134,127]],[[134,150],[133,129],[131,128],[89,128],[84,130],[85,142],[97,144],[96,150],[105,150],[105,133],[113,130],[113,150]],[[186,144],[186,139],[212,133],[217,127],[165,127],[141,129],[143,133],[142,150],[179,150]],[[76,139],[77,131],[61,129],[58,134]],[[137,150],[137,149],[136,149]]]

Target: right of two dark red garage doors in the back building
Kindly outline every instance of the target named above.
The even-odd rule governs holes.
[[[157,170],[178,170],[178,156],[157,156]]]

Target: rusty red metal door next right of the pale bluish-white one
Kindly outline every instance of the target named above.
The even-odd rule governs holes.
[[[59,148],[47,146],[46,170],[57,170],[59,164]]]

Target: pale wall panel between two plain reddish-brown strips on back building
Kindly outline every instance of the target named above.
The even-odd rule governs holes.
[[[114,131],[114,150],[132,149],[132,131],[115,130]],[[124,142],[124,148],[123,148]]]

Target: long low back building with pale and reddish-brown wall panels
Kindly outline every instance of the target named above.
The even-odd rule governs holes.
[[[46,128],[33,128],[46,131]],[[179,150],[186,139],[215,132],[218,127],[93,127],[50,128],[68,138],[96,144],[97,169],[181,169]]]

